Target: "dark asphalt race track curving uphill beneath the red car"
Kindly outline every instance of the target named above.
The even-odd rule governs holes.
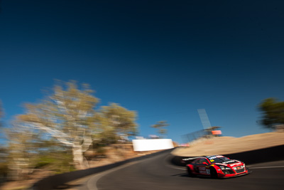
[[[187,176],[169,162],[170,152],[97,174],[80,189],[283,189],[284,161],[249,166],[252,173],[230,179]],[[234,158],[232,158],[234,159]]]

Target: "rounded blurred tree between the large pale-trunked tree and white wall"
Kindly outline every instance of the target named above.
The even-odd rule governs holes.
[[[136,112],[127,110],[118,104],[102,106],[97,121],[102,131],[101,137],[127,140],[137,134]]]

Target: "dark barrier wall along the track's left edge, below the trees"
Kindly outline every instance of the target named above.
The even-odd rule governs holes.
[[[89,176],[92,174],[97,174],[99,172],[102,171],[106,171],[108,169],[112,169],[114,167],[119,167],[123,164],[129,163],[129,162],[134,162],[134,161],[138,161],[141,159],[146,159],[149,157],[153,157],[155,155],[158,154],[163,154],[164,152],[170,152],[173,149],[166,149],[160,152],[155,152],[153,154],[148,154],[142,157],[135,157],[132,159],[126,159],[124,161],[121,162],[116,162],[114,164],[109,164],[109,165],[105,165],[102,167],[94,167],[94,168],[90,168],[90,169],[84,169],[84,170],[78,170],[78,171],[72,171],[72,172],[68,172],[68,173],[64,173],[64,174],[57,174],[57,175],[53,175],[53,176],[48,176],[44,179],[41,179],[40,181],[38,181],[37,183],[35,183],[31,189],[32,190],[50,190],[50,189],[55,189],[57,186],[60,186],[61,184],[65,184],[69,181],[73,181],[75,179],[80,179],[84,176]]]

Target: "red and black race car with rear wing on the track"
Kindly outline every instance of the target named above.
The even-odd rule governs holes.
[[[199,157],[186,167],[189,176],[207,175],[212,178],[226,178],[249,174],[244,162],[221,155]]]

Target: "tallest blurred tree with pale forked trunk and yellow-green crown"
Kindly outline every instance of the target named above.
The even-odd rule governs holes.
[[[30,127],[71,147],[73,162],[82,169],[87,166],[83,153],[93,142],[95,111],[98,99],[89,85],[77,88],[75,81],[55,85],[54,94],[38,104],[26,104],[26,113],[18,115],[18,127]]]

